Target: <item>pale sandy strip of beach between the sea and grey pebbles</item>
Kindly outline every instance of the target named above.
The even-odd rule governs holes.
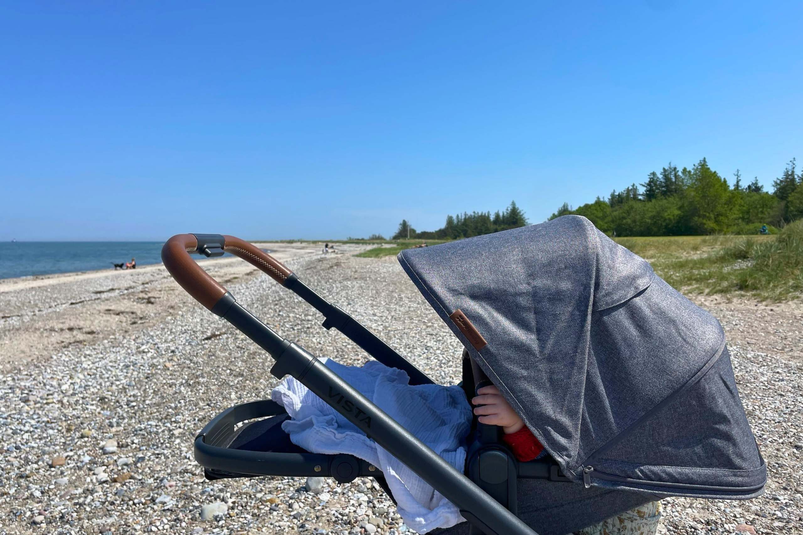
[[[293,265],[323,258],[317,245],[257,242]],[[349,247],[344,253],[362,250]],[[340,256],[340,255],[338,255]],[[330,258],[335,258],[330,255]],[[238,257],[198,257],[198,265],[227,288],[264,275]],[[233,290],[234,291],[234,290]],[[236,292],[234,292],[236,294]],[[135,336],[200,306],[163,264],[136,270],[92,270],[0,280],[0,370],[42,362],[75,347],[119,335]]]

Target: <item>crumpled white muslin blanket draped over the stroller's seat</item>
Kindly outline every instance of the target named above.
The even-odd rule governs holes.
[[[377,361],[369,361],[362,367],[343,366],[332,359],[321,362],[463,472],[471,407],[460,387],[410,386],[404,371]],[[440,492],[296,379],[283,379],[271,392],[271,399],[290,415],[282,429],[293,444],[313,453],[349,453],[380,468],[397,501],[398,513],[408,527],[427,533],[463,521],[459,509]]]

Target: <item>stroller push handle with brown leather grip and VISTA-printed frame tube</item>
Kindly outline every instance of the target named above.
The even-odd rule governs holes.
[[[230,322],[256,342],[274,359],[271,375],[282,379],[295,377],[310,391],[324,399],[340,415],[376,440],[390,455],[410,467],[460,509],[475,527],[488,535],[536,535],[514,513],[506,509],[463,472],[443,460],[372,401],[303,348],[288,342],[253,314],[240,306],[234,296],[195,263],[190,253],[219,257],[230,252],[269,274],[276,282],[298,294],[319,310],[326,321],[324,328],[335,327],[370,355],[389,367],[398,367],[410,375],[410,384],[428,384],[432,380],[398,355],[339,307],[324,298],[292,274],[269,254],[247,241],[221,234],[177,234],[165,242],[161,259],[173,278],[188,294],[214,314]],[[493,527],[491,527],[493,526]],[[471,533],[476,533],[472,531]]]

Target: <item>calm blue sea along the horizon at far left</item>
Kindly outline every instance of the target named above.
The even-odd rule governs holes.
[[[132,257],[137,258],[137,267],[159,264],[162,245],[162,241],[6,241],[0,243],[0,278],[113,270],[112,264]]]

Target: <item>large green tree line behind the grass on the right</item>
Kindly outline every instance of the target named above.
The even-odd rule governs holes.
[[[772,182],[772,193],[757,177],[744,185],[738,169],[731,186],[705,158],[691,169],[670,163],[639,185],[642,189],[631,184],[577,209],[564,203],[549,219],[574,213],[609,235],[680,236],[756,234],[762,225],[774,233],[775,227],[803,218],[803,170],[797,173],[794,158]]]

